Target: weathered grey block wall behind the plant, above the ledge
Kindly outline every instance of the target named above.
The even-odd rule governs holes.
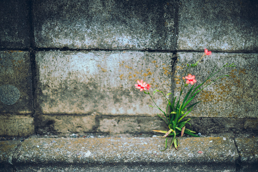
[[[258,131],[258,3],[187,0],[0,2],[0,135],[166,129],[143,79],[178,95],[187,63],[200,84],[189,116],[204,134]],[[166,101],[155,94],[157,105]]]

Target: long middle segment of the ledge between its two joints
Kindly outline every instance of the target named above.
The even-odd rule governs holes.
[[[17,170],[42,164],[83,165],[84,169],[100,168],[101,164],[138,169],[144,166],[202,169],[207,164],[212,164],[208,169],[213,171],[236,168],[237,149],[234,141],[226,137],[180,138],[178,150],[162,152],[164,142],[164,138],[27,139],[15,152],[13,161]]]

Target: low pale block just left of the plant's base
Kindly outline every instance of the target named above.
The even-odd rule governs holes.
[[[97,132],[109,134],[120,133],[155,133],[153,129],[167,130],[166,123],[159,117],[108,117],[100,116],[98,118],[99,126]]]

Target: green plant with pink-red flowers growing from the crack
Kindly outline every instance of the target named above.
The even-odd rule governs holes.
[[[165,135],[163,137],[166,137],[166,142],[165,142],[165,149],[167,149],[167,140],[168,137],[171,136],[173,137],[173,140],[171,142],[171,146],[170,149],[172,148],[172,146],[174,145],[175,149],[178,149],[179,146],[179,142],[178,139],[176,138],[176,135],[181,134],[181,136],[183,136],[183,133],[192,135],[192,136],[199,136],[194,134],[195,131],[192,131],[188,128],[186,128],[186,124],[189,124],[191,126],[191,124],[189,123],[189,121],[193,118],[187,118],[187,115],[193,110],[193,108],[199,104],[199,102],[195,102],[194,104],[191,104],[191,101],[194,99],[194,97],[200,92],[202,91],[204,88],[206,88],[208,85],[210,85],[211,83],[215,82],[216,80],[218,80],[219,78],[222,77],[229,77],[228,75],[223,75],[220,77],[217,77],[216,79],[214,79],[213,81],[209,82],[205,87],[200,88],[205,82],[207,82],[208,80],[210,80],[211,78],[213,78],[216,74],[218,74],[219,71],[221,71],[224,67],[233,67],[235,65],[233,65],[234,63],[232,63],[231,65],[225,64],[223,67],[218,68],[217,71],[215,71],[216,66],[213,68],[211,74],[208,76],[208,78],[201,83],[200,85],[198,85],[195,89],[194,89],[194,84],[196,83],[196,79],[194,75],[189,74],[187,75],[188,69],[189,67],[196,67],[199,63],[199,61],[206,55],[211,55],[211,51],[208,51],[207,49],[204,50],[204,54],[201,56],[201,58],[194,64],[187,64],[187,69],[185,72],[185,77],[182,77],[183,82],[181,84],[181,89],[180,89],[180,94],[179,97],[177,96],[173,96],[172,95],[172,99],[169,100],[166,96],[171,94],[168,93],[167,95],[165,95],[162,91],[155,89],[155,91],[153,91],[153,95],[156,92],[160,92],[165,99],[167,100],[168,104],[167,104],[167,108],[166,111],[161,110],[158,105],[156,104],[156,102],[154,101],[153,97],[151,96],[149,90],[151,88],[151,86],[149,84],[146,84],[145,82],[143,83],[143,80],[141,81],[137,81],[137,84],[135,84],[135,88],[140,89],[140,91],[143,91],[145,94],[149,94],[151,99],[153,100],[155,106],[150,106],[153,108],[157,108],[162,112],[162,116],[158,114],[158,116],[164,120],[168,126],[168,131],[163,131],[163,130],[153,130],[155,132],[161,132],[164,133]],[[187,80],[187,81],[186,81]],[[182,97],[182,92],[185,88],[188,87],[188,85],[191,84],[191,88],[187,91],[185,97],[183,99],[181,99]],[[146,92],[146,90],[148,92]],[[170,109],[170,111],[169,111]],[[170,113],[168,113],[170,112]],[[164,151],[163,150],[163,151]]]

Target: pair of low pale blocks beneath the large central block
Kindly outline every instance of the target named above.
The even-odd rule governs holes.
[[[159,117],[104,116],[104,115],[41,115],[38,117],[37,133],[51,132],[58,135],[98,132],[105,134],[154,133],[152,129],[166,130]]]

